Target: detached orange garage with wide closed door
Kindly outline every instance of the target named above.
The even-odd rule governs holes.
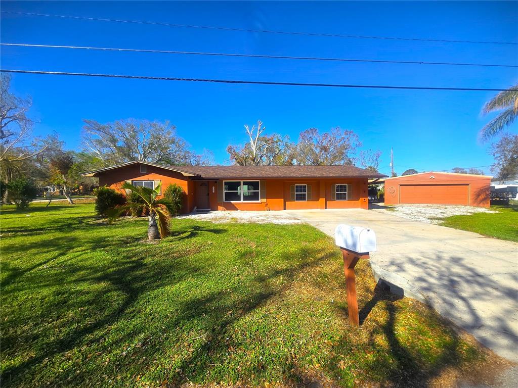
[[[491,176],[422,172],[385,179],[385,203],[490,206]]]

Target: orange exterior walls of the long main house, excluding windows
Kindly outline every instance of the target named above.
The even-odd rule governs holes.
[[[98,175],[99,185],[111,187],[125,195],[122,184],[125,181],[133,180],[160,180],[162,190],[171,184],[176,183],[185,192],[182,214],[190,213],[196,206],[196,182],[189,176],[180,173],[164,170],[154,166],[147,166],[147,172],[140,172],[140,165],[129,165],[113,170],[108,170]],[[248,180],[258,180],[259,178]],[[337,208],[363,208],[368,209],[368,182],[367,178],[349,179],[271,179],[261,180],[266,184],[266,200],[260,202],[219,202],[218,203],[218,181],[207,180],[209,183],[209,204],[211,210],[294,210],[294,209],[337,209]],[[290,199],[290,185],[306,184],[311,186],[311,199],[309,201],[292,201]],[[332,201],[331,185],[348,184],[348,200]]]

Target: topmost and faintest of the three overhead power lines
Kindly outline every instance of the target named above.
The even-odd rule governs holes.
[[[51,17],[51,18],[90,20],[90,21],[99,21],[99,22],[135,23],[135,24],[160,25],[160,26],[167,26],[167,27],[218,29],[218,30],[222,30],[222,31],[240,31],[240,32],[249,32],[249,33],[267,33],[267,34],[301,35],[301,36],[322,36],[322,37],[333,37],[333,38],[384,39],[384,40],[405,40],[405,41],[421,41],[421,42],[445,42],[445,43],[518,44],[516,42],[483,41],[483,40],[450,40],[450,39],[431,39],[431,38],[401,38],[401,37],[389,37],[389,36],[367,36],[367,35],[345,35],[345,34],[290,32],[290,31],[275,31],[275,30],[270,30],[270,29],[252,29],[252,28],[206,26],[206,25],[194,25],[194,24],[163,23],[163,22],[153,22],[153,21],[145,21],[145,20],[122,20],[122,19],[107,19],[107,18],[90,18],[90,17],[84,17],[84,16],[55,15],[55,14],[35,13],[35,12],[2,11],[2,13],[19,14],[19,15],[26,15],[26,16],[42,16],[42,17]]]

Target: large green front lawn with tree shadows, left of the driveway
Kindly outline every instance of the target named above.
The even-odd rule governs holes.
[[[375,292],[366,262],[349,326],[340,251],[307,225],[175,219],[149,244],[145,219],[109,225],[93,204],[5,206],[0,221],[3,387],[450,386],[499,363]]]

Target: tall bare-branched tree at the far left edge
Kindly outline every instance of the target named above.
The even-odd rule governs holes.
[[[46,138],[33,137],[33,121],[28,117],[32,106],[30,97],[18,97],[9,92],[11,76],[1,74],[0,87],[0,166],[4,182],[9,183],[17,175],[22,176],[36,157],[51,147],[61,147],[55,135]],[[5,197],[8,192],[5,193]]]

